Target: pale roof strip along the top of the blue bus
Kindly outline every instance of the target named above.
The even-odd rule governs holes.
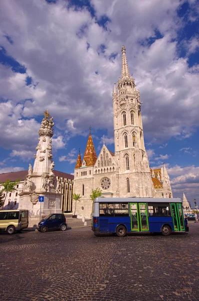
[[[179,198],[95,198],[95,203],[181,203]]]

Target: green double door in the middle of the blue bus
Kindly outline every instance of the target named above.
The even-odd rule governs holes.
[[[146,203],[130,203],[131,231],[148,231],[148,216]]]

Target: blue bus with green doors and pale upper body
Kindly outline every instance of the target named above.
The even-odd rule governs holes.
[[[92,231],[102,233],[187,232],[181,199],[96,198],[92,204]]]

